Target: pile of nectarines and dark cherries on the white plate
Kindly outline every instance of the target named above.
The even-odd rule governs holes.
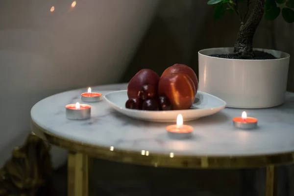
[[[125,107],[137,110],[189,109],[198,89],[196,73],[187,65],[174,64],[159,77],[142,69],[128,83]]]

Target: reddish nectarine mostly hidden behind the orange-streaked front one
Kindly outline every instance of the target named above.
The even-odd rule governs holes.
[[[185,73],[187,74],[193,81],[195,85],[195,89],[197,92],[198,89],[198,79],[196,73],[187,65],[184,64],[174,64],[171,67],[168,67],[161,75],[161,77],[171,74],[171,73]],[[196,94],[195,94],[196,95]]]

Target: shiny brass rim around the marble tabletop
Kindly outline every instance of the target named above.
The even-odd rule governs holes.
[[[167,168],[237,169],[294,163],[294,152],[255,156],[185,156],[151,152],[142,155],[141,151],[122,150],[116,149],[115,147],[100,147],[62,138],[49,133],[49,131],[39,126],[33,120],[31,120],[31,128],[34,134],[46,140],[51,145],[66,148],[73,152],[85,153],[99,159],[135,165]]]

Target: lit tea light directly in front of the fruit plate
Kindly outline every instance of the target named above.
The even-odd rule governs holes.
[[[183,124],[183,116],[178,114],[176,124],[166,127],[168,135],[175,139],[186,139],[192,137],[193,127]]]

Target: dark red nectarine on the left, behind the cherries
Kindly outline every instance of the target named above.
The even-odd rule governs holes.
[[[136,73],[128,83],[127,86],[127,97],[137,98],[139,91],[146,84],[152,85],[157,92],[158,82],[160,77],[153,70],[142,69]]]

